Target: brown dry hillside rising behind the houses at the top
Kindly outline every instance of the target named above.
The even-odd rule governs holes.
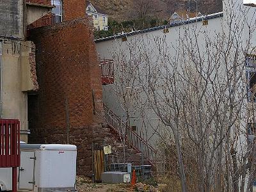
[[[168,19],[177,10],[191,10],[191,12],[196,10],[196,2],[193,0],[90,0],[90,2],[105,10],[109,17],[118,20],[127,20],[129,19],[127,17],[132,17],[141,9],[161,19]],[[222,0],[198,0],[198,11],[205,15],[221,10]]]

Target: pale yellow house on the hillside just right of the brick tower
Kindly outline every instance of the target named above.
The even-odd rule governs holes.
[[[86,1],[86,15],[92,16],[93,26],[97,30],[108,31],[108,15],[99,7],[92,5],[89,1]]]

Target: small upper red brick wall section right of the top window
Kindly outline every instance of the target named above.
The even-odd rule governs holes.
[[[63,0],[63,20],[83,18],[86,15],[86,1]]]

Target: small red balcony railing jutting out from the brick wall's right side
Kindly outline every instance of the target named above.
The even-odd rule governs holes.
[[[114,83],[114,62],[113,60],[100,60],[102,84]]]

